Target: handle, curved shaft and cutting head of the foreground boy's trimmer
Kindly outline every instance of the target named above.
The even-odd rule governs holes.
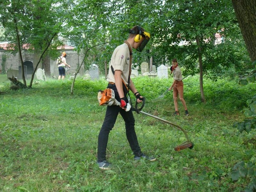
[[[135,108],[133,108],[132,103],[131,103],[132,110],[133,110],[133,111],[136,111],[138,114],[139,114],[139,113],[142,113],[142,114],[144,114],[144,115],[153,117],[153,118],[155,118],[155,119],[158,119],[158,120],[160,120],[160,121],[162,121],[162,122],[164,122],[164,123],[168,123],[168,124],[170,124],[170,125],[173,125],[173,126],[177,127],[178,129],[180,129],[180,130],[184,133],[184,135],[185,135],[185,137],[186,137],[187,140],[186,140],[185,142],[181,143],[180,145],[174,147],[174,150],[175,150],[175,151],[180,151],[180,150],[183,150],[183,149],[186,149],[186,148],[192,149],[192,148],[194,147],[194,145],[193,145],[193,143],[191,142],[191,140],[188,138],[187,132],[186,132],[182,127],[180,127],[180,126],[177,125],[177,124],[174,124],[174,123],[171,123],[171,122],[169,122],[169,121],[166,121],[166,120],[164,120],[164,119],[162,119],[162,118],[159,118],[159,117],[157,117],[157,116],[153,116],[153,115],[151,115],[151,114],[148,114],[148,113],[145,113],[145,112],[141,111],[141,109],[144,107],[145,100],[146,100],[145,97],[143,97],[142,105],[141,105],[140,108],[137,108],[137,106],[138,106],[137,100],[136,100]]]

